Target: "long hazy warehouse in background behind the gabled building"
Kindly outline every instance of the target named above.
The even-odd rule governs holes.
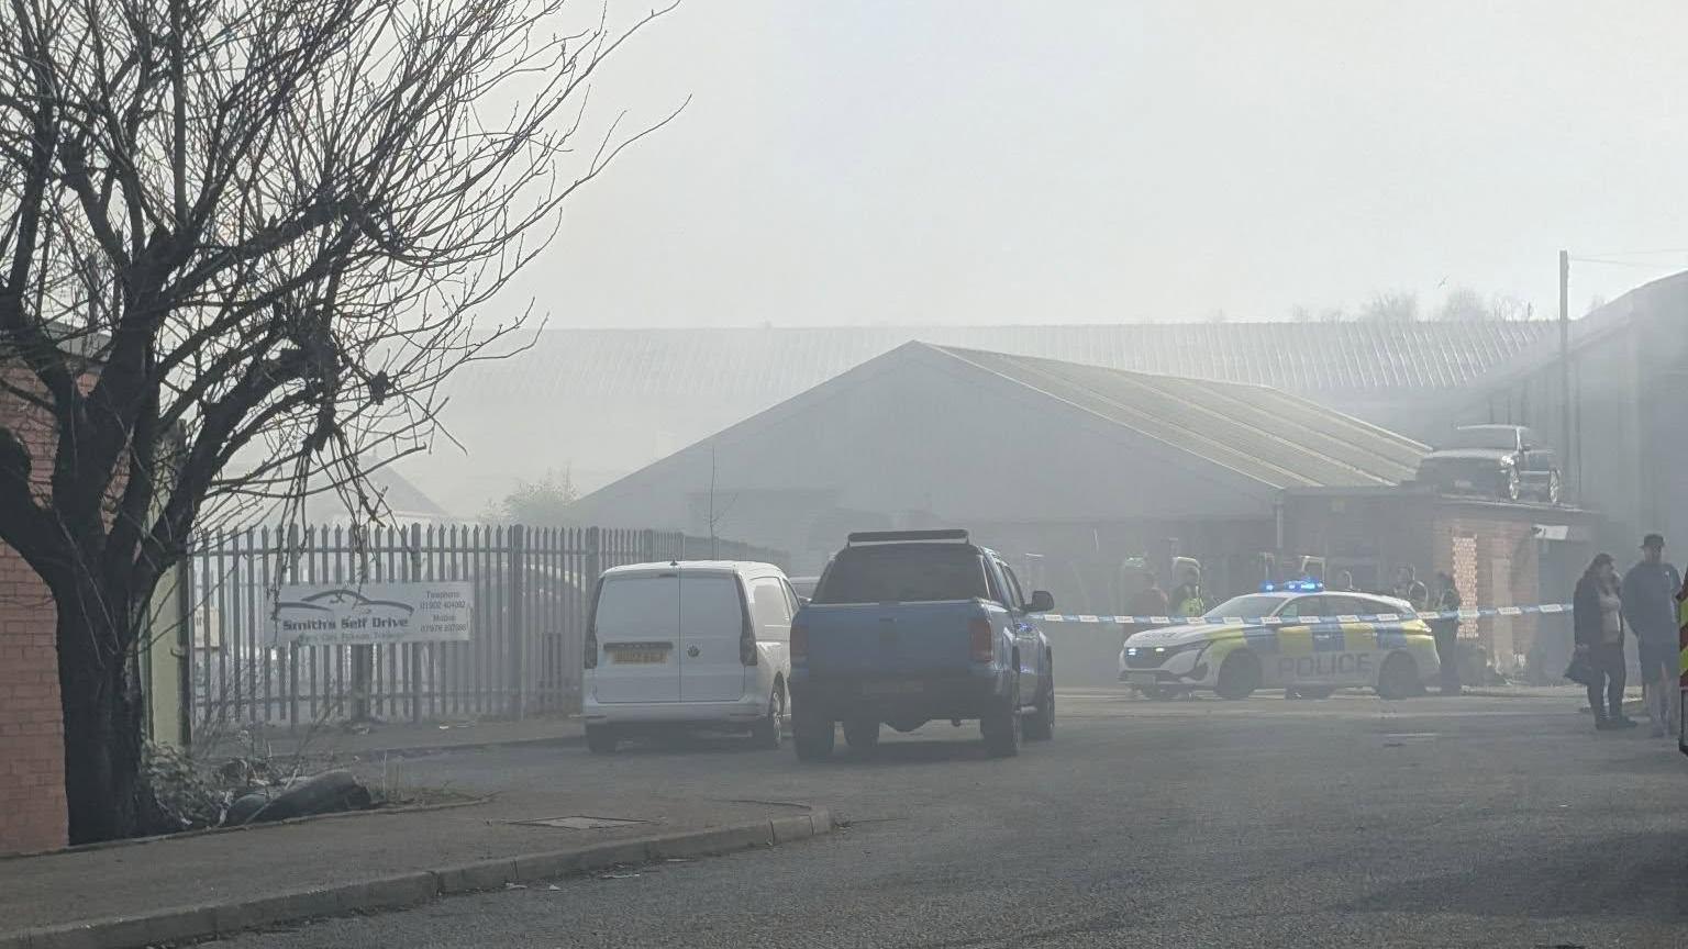
[[[910,341],[1269,385],[1431,441],[1553,339],[1550,323],[1442,321],[544,329],[452,375],[441,417],[463,451],[400,466],[459,517],[547,473],[592,491]]]

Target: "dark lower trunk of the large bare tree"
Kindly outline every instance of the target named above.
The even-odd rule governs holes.
[[[100,603],[59,605],[64,800],[73,844],[130,838],[140,829],[142,706],[128,648],[116,647],[135,638],[113,628],[125,621],[122,611],[105,615]]]

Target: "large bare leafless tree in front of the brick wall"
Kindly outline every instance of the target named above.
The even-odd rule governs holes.
[[[39,426],[0,427],[0,539],[56,601],[81,843],[135,827],[130,657],[196,522],[373,507],[439,382],[513,350],[525,314],[476,312],[559,204],[674,118],[577,142],[599,64],[672,7],[0,5],[0,397]]]

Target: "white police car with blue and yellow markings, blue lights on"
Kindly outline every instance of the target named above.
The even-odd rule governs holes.
[[[1345,686],[1404,699],[1423,692],[1436,669],[1435,638],[1409,603],[1327,593],[1315,581],[1264,584],[1202,621],[1134,633],[1119,650],[1119,681],[1151,699],[1197,689],[1225,699],[1258,689],[1323,697]]]

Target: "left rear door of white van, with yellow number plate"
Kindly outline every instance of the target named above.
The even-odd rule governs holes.
[[[680,701],[680,572],[609,576],[592,616],[599,702]]]

